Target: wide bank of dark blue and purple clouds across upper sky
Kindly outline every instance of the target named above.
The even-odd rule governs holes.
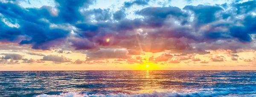
[[[148,5],[148,1],[125,2],[124,7],[144,6]],[[252,34],[256,34],[256,17],[252,15],[256,9],[255,0],[214,6],[185,6],[183,9],[173,6],[146,7],[135,11],[143,18],[133,20],[125,18],[125,8],[113,13],[110,9],[87,9],[94,2],[55,0],[55,7],[41,8],[23,8],[18,2],[1,2],[0,17],[5,21],[0,21],[0,41],[29,44],[34,49],[42,50],[64,43],[76,50],[127,48],[129,54],[139,54],[141,50],[209,54],[207,50],[256,49],[252,46],[255,38]],[[8,26],[7,22],[12,26]],[[138,32],[138,29],[141,31]],[[72,30],[73,34],[70,33]],[[106,55],[97,57],[93,53],[89,53],[88,57],[108,58]],[[109,58],[119,57],[130,58],[126,52],[121,56],[109,55]],[[160,59],[163,58],[159,58],[162,61]],[[221,59],[212,58],[212,61]]]

